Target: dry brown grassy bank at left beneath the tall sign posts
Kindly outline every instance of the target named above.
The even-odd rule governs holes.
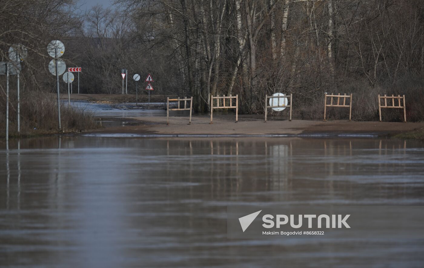
[[[96,129],[100,126],[90,112],[61,104],[61,131],[58,129],[57,99],[53,94],[41,91],[27,91],[20,101],[20,135],[34,136],[69,133]],[[0,137],[6,134],[6,99],[0,103]],[[17,137],[17,98],[10,96],[9,135]]]

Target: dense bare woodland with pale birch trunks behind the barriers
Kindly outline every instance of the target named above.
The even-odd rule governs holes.
[[[262,113],[265,95],[282,92],[293,93],[296,115],[321,118],[325,92],[353,93],[352,118],[374,120],[381,93],[405,94],[408,119],[424,119],[421,0],[118,0],[87,12],[10,0],[0,9],[2,61],[11,44],[30,49],[24,90],[54,92],[45,47],[57,38],[68,65],[83,68],[82,93],[120,93],[127,68],[129,78],[151,72],[156,94],[192,95],[198,111],[210,94],[238,94],[241,112]]]

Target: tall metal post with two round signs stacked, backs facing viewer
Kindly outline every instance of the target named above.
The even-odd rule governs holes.
[[[57,87],[57,117],[59,122],[59,129],[61,129],[61,122],[60,122],[60,93],[59,93],[59,71],[61,71],[61,74],[64,73],[64,69],[66,68],[66,64],[63,60],[59,61],[59,57],[63,55],[65,52],[65,46],[64,44],[59,40],[53,40],[50,42],[50,44],[47,45],[47,53],[50,55],[50,57],[53,57],[54,60],[50,61],[49,64],[49,71],[51,74],[56,75],[56,87]],[[54,69],[51,68],[51,63],[54,61]],[[61,64],[61,67],[63,67],[63,70],[58,68],[59,64]]]

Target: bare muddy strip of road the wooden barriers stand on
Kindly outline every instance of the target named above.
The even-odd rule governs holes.
[[[108,119],[113,120],[113,119]],[[115,118],[116,120],[116,118]],[[120,118],[119,120],[123,120]],[[218,115],[209,124],[208,115],[195,115],[189,125],[188,116],[125,118],[131,124],[86,131],[84,135],[107,137],[391,137],[424,128],[424,123],[275,120],[239,117],[235,123],[232,115]],[[128,134],[128,135],[124,135]],[[132,136],[131,136],[132,134]]]

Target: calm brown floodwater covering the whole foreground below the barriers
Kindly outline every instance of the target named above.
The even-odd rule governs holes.
[[[423,267],[424,241],[229,239],[228,205],[424,205],[424,146],[392,139],[12,140],[0,266]]]

